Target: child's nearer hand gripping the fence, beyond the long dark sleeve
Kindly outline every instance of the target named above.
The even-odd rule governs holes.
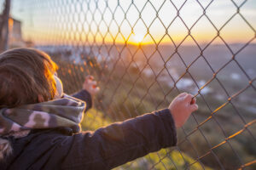
[[[193,98],[193,95],[187,93],[179,94],[172,100],[168,109],[172,113],[176,127],[182,127],[190,114],[198,110],[198,105],[195,102],[196,100]]]

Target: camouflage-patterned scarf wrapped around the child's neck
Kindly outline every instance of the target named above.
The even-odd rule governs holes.
[[[86,104],[67,94],[61,99],[0,110],[0,137],[40,128],[70,127],[79,133]]]

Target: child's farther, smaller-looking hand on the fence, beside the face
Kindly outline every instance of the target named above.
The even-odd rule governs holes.
[[[85,77],[83,89],[87,90],[91,95],[95,95],[100,91],[100,88],[97,87],[97,82],[92,76]]]

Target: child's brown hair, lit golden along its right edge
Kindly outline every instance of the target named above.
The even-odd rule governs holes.
[[[0,54],[0,108],[54,99],[56,70],[49,55],[37,49],[15,48]]]

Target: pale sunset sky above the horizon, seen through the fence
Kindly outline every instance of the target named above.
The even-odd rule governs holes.
[[[173,40],[178,45],[188,35],[188,28],[197,42],[210,42],[217,35],[216,29],[222,28],[224,23],[230,20],[230,17],[237,11],[235,4],[230,0],[215,0],[208,7],[207,5],[211,1],[201,0],[202,7],[207,7],[208,18],[216,26],[214,28],[206,16],[203,16],[195,24],[203,14],[202,7],[195,0],[188,0],[184,5],[182,0],[172,0],[172,3],[164,0],[146,2],[134,0],[134,3],[131,4],[131,1],[124,0],[119,1],[118,6],[118,1],[109,0],[106,10],[107,3],[103,0],[99,0],[97,4],[95,1],[88,3],[88,1],[82,0],[13,0],[11,14],[15,19],[22,21],[24,39],[41,44],[102,43],[103,41],[112,43],[115,39],[117,43],[125,41],[130,43],[171,43]],[[235,0],[234,2],[240,6],[245,1]],[[179,10],[181,20],[177,17],[177,9],[182,5],[183,7]],[[157,19],[155,19],[156,12],[153,6],[155,10],[159,10]],[[123,21],[125,14],[122,9],[127,11],[128,8],[126,20]],[[101,14],[103,11],[104,14]],[[140,11],[141,18],[139,19]],[[253,27],[254,31],[241,18],[240,14]],[[240,8],[240,14],[236,14],[220,31],[220,36],[228,43],[248,42],[255,36],[256,1],[246,1]],[[175,19],[175,17],[177,18]],[[153,20],[154,22],[152,22]],[[131,33],[131,26],[133,33]],[[172,40],[165,36],[166,33],[172,37]],[[214,43],[219,42],[219,38],[214,41]],[[194,42],[188,37],[183,43]]]

